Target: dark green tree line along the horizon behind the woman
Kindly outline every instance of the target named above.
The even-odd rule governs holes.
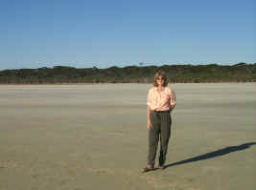
[[[235,65],[162,65],[116,66],[77,69],[53,68],[0,71],[0,84],[58,84],[58,83],[151,83],[153,74],[164,71],[171,83],[256,82],[256,63]]]

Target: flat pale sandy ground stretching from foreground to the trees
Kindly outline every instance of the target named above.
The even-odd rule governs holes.
[[[256,84],[173,84],[168,168],[142,174],[151,85],[0,86],[0,190],[254,190]]]

